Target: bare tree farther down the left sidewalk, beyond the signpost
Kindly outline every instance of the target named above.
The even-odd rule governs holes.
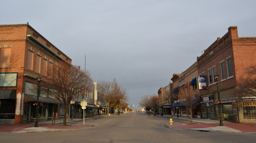
[[[102,93],[106,108],[107,116],[109,116],[110,107],[115,105],[118,101],[128,99],[126,89],[117,84],[114,78],[113,82],[99,81],[99,91]]]

